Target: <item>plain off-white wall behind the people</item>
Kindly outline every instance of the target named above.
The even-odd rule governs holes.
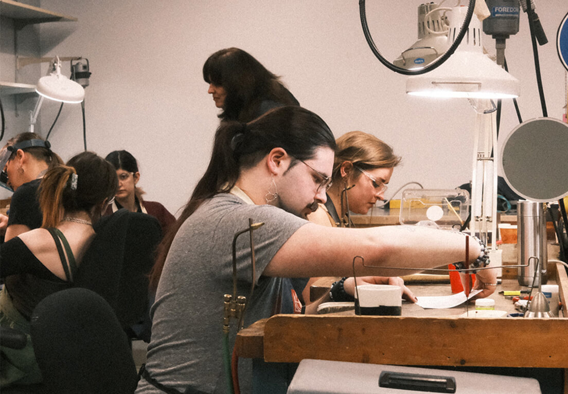
[[[415,41],[421,2],[367,3],[375,43],[395,58]],[[147,198],[173,213],[205,170],[218,125],[203,62],[229,46],[247,50],[282,75],[300,103],[323,117],[337,137],[363,130],[390,143],[403,156],[391,192],[411,180],[425,188],[454,188],[471,179],[470,104],[407,96],[406,77],[379,63],[367,46],[357,1],[42,0],[41,6],[78,18],[42,25],[41,41],[43,56],[89,59],[88,148],[102,156],[116,149],[132,152]],[[554,40],[566,11],[565,0],[537,2],[551,41],[538,49],[548,113],[556,118],[566,104],[566,73]],[[520,32],[507,40],[506,50],[509,71],[522,84],[524,120],[542,116],[528,30],[527,15],[521,14]],[[485,47],[495,52],[490,37]],[[41,112],[44,128],[57,111],[48,104]],[[505,101],[501,137],[517,124],[512,101]],[[80,109],[64,108],[50,138],[64,159],[82,150],[81,130]]]

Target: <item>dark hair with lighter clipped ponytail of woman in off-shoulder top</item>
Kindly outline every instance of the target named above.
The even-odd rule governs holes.
[[[77,184],[73,185],[73,174]],[[87,211],[94,221],[102,214],[102,202],[110,200],[118,189],[112,165],[93,152],[73,156],[65,166],[45,173],[39,186],[42,227],[55,227],[61,221],[60,208],[66,212]]]

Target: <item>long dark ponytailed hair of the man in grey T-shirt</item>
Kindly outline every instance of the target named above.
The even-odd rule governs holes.
[[[229,192],[240,170],[253,167],[275,147],[286,150],[296,160],[308,160],[319,147],[335,150],[336,144],[328,125],[315,113],[298,106],[274,108],[248,124],[222,122],[215,133],[207,170],[158,248],[150,273],[151,286],[157,286],[166,255],[183,222],[208,198]]]

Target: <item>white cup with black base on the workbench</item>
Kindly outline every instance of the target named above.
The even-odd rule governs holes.
[[[400,316],[402,294],[399,286],[361,285],[355,292],[356,315]]]

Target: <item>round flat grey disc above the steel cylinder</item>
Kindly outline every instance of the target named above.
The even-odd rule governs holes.
[[[536,118],[512,130],[501,147],[507,184],[531,201],[556,201],[568,194],[568,124]]]

